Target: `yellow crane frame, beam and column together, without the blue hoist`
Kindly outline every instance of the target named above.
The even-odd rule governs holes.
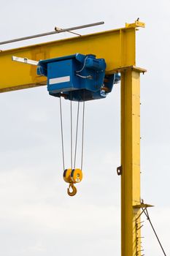
[[[34,65],[14,64],[12,56],[39,61],[74,53],[93,53],[105,59],[107,75],[120,72],[121,164],[117,174],[121,178],[122,256],[142,255],[140,217],[150,206],[142,202],[140,195],[140,74],[146,69],[136,67],[136,31],[139,27],[144,28],[144,23],[136,20],[121,29],[0,51],[0,92],[47,84],[45,76],[36,74]]]

